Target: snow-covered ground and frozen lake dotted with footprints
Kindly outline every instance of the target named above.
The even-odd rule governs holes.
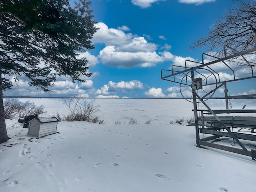
[[[68,114],[58,99],[20,100],[43,104],[47,116]],[[11,139],[0,144],[0,192],[256,191],[256,161],[197,148],[194,126],[175,123],[177,118],[193,117],[192,103],[184,99],[95,102],[105,124],[62,121],[57,134],[43,138],[27,135],[17,120],[6,120]],[[207,103],[213,109],[225,108],[223,100]],[[233,108],[244,104],[246,109],[256,108],[256,100],[235,100]],[[137,124],[129,124],[131,118]]]

